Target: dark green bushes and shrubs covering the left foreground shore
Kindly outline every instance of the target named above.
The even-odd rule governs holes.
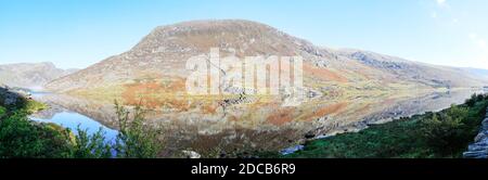
[[[78,128],[75,134],[54,124],[31,121],[28,116],[47,106],[0,90],[0,158],[147,158],[160,151],[157,132],[143,126],[144,112],[140,107],[129,113],[115,103],[120,129],[115,142],[111,142],[101,129],[89,134],[88,129]],[[11,99],[9,103],[7,99]]]

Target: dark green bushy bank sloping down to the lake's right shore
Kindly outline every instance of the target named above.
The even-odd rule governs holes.
[[[477,134],[487,106],[488,95],[473,94],[464,104],[438,113],[309,141],[303,151],[277,157],[461,158]]]

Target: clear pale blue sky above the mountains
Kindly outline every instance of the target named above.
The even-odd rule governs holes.
[[[317,46],[488,69],[486,0],[0,0],[0,64],[84,68],[154,27],[261,22]]]

